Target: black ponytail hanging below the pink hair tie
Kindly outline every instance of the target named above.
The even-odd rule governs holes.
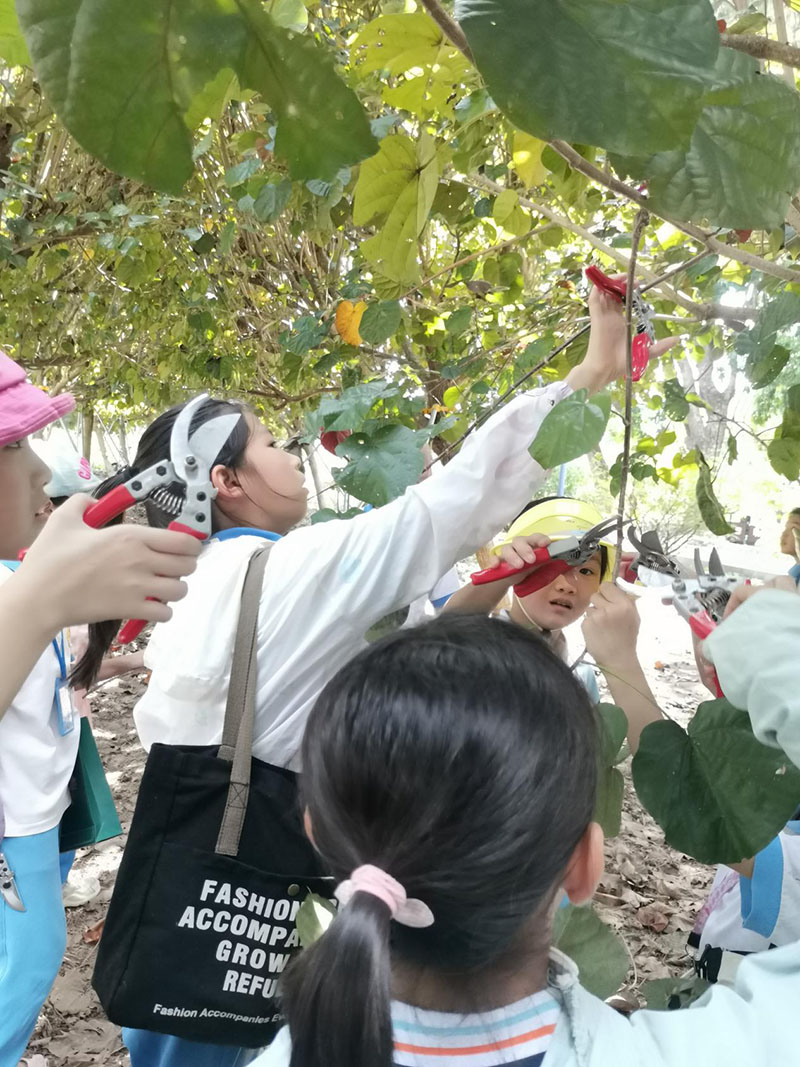
[[[389,909],[355,893],[286,971],[290,1067],[391,1067]]]

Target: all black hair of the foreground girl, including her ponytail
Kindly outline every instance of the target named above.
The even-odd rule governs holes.
[[[329,682],[303,742],[315,845],[337,880],[381,867],[434,923],[389,925],[384,903],[355,893],[286,972],[291,1067],[390,1067],[393,959],[473,1000],[487,969],[546,952],[592,818],[596,748],[581,684],[499,619],[400,631]]]

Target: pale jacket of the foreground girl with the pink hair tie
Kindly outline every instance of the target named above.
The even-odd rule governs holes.
[[[769,642],[769,654],[765,654]],[[705,642],[729,700],[747,707],[764,744],[800,766],[800,596],[747,601]],[[579,984],[553,952],[548,986],[562,1013],[545,1067],[794,1067],[800,1064],[800,942],[749,956],[733,988],[714,986],[682,1012],[619,1015]],[[288,1029],[254,1064],[288,1067]]]

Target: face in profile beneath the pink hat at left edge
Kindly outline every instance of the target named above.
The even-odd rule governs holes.
[[[28,439],[0,447],[0,559],[16,559],[33,543],[50,512],[45,485],[50,469]]]

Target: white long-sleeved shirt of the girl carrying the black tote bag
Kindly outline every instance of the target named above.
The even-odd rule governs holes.
[[[557,382],[516,397],[435,478],[383,508],[294,530],[273,544],[258,620],[253,754],[298,766],[308,713],[327,680],[389,611],[433,588],[526,504],[545,472],[528,448],[569,396]],[[222,737],[239,601],[257,536],[214,540],[189,593],[145,652],[153,674],[134,719],[143,746],[214,745]]]

